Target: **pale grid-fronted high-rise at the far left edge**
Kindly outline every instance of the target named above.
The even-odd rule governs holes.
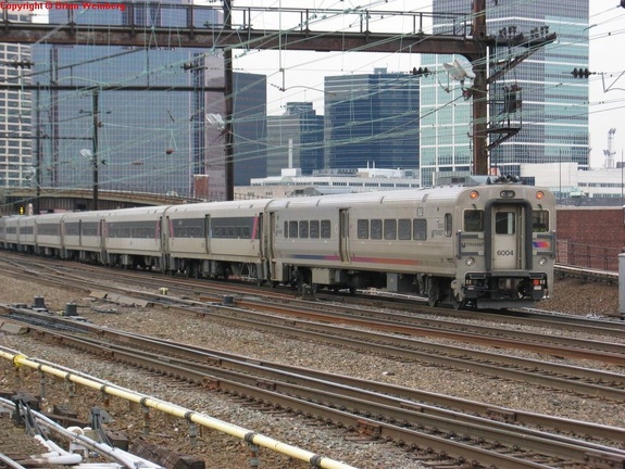
[[[29,22],[30,16],[9,13],[9,21]],[[34,180],[30,132],[32,93],[20,85],[29,83],[30,46],[0,43],[0,81],[15,88],[0,90],[0,188],[30,186]]]

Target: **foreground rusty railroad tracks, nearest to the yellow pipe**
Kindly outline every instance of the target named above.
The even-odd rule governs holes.
[[[440,453],[436,465],[449,457],[455,462],[478,460],[486,466],[510,468],[541,467],[547,462],[554,467],[554,458],[563,466],[625,461],[623,449],[520,424],[592,434],[614,442],[625,439],[624,429],[503,408],[478,408],[475,403],[452,397],[439,402],[436,395],[385,383],[266,362],[261,364],[201,347],[97,329],[85,325],[90,337],[97,334],[97,339],[84,333],[53,332],[40,329],[40,326],[37,334],[150,372],[264,405],[271,403],[275,408],[303,413],[326,423],[332,421],[339,427],[353,428],[372,439],[402,442],[417,453],[434,447]],[[102,342],[104,338],[107,341]],[[430,401],[435,403],[429,404]],[[508,422],[498,421],[507,419]],[[511,452],[515,453],[514,457],[510,456]]]

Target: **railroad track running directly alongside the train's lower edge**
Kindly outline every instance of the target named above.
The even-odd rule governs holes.
[[[450,310],[445,308],[432,308],[422,304],[415,305],[413,302],[408,304],[404,302],[397,302],[396,299],[382,299],[379,296],[353,297],[346,295],[329,295],[321,294],[313,302],[297,299],[292,290],[276,291],[275,289],[260,289],[258,287],[245,286],[240,283],[224,283],[222,281],[203,281],[164,277],[162,275],[154,275],[150,272],[137,272],[127,270],[111,270],[102,267],[87,266],[76,264],[72,267],[59,266],[58,263],[33,264],[30,257],[26,257],[24,262],[25,278],[33,279],[36,276],[41,281],[47,281],[53,286],[68,284],[74,288],[82,288],[85,291],[93,289],[93,278],[97,277],[100,281],[110,281],[111,283],[102,286],[102,290],[110,290],[120,292],[122,294],[134,294],[137,297],[143,297],[154,303],[166,304],[170,302],[167,297],[162,294],[155,293],[159,287],[166,288],[172,294],[184,297],[195,297],[198,301],[205,303],[220,303],[224,296],[232,299],[245,299],[246,305],[251,305],[251,299],[259,299],[272,303],[287,303],[284,308],[276,306],[276,312],[288,314],[289,306],[302,305],[302,308],[312,309],[311,304],[315,305],[316,309],[332,309],[337,313],[345,313],[346,316],[359,315],[363,318],[386,318],[393,322],[405,322],[413,325],[421,325],[424,327],[432,327],[434,329],[459,329],[467,331],[468,325],[459,325],[459,320],[484,320],[497,321],[498,327],[488,330],[488,328],[474,328],[476,334],[496,337],[504,339],[507,331],[501,329],[500,325],[511,325],[515,328],[513,334],[508,334],[513,341],[517,339],[517,334],[522,334],[516,326],[534,327],[537,330],[542,328],[558,328],[560,331],[566,332],[584,332],[596,333],[601,338],[613,337],[623,338],[625,335],[625,322],[618,320],[611,320],[610,318],[588,318],[583,316],[573,316],[564,314],[555,314],[552,312],[541,312],[538,309],[533,310],[498,310],[493,312],[479,312],[479,310]],[[17,274],[18,275],[18,274]],[[128,287],[120,288],[118,284],[135,286],[136,289]],[[145,290],[137,290],[143,288]],[[172,300],[175,302],[176,300]],[[330,303],[330,306],[324,304]],[[239,303],[240,304],[240,303]],[[253,306],[253,305],[252,305]],[[392,310],[403,312],[405,314],[395,314]],[[434,316],[434,317],[433,317]],[[449,320],[443,320],[449,318]],[[549,335],[539,339],[538,335],[533,338],[535,342],[552,343],[561,339]],[[565,343],[566,339],[561,340]],[[578,344],[584,345],[584,344]],[[592,346],[588,342],[588,347]],[[601,352],[604,351],[599,346]]]

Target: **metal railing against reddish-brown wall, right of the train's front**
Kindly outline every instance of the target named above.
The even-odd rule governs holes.
[[[618,271],[618,254],[622,252],[623,250],[617,248],[558,240],[555,263],[565,266]]]

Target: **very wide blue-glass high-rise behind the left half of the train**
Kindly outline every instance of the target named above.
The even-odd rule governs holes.
[[[176,3],[171,2],[171,3]],[[123,9],[50,11],[80,24],[186,26],[180,5],[120,3]],[[218,10],[195,11],[193,24],[221,23]],[[33,46],[33,81],[41,85],[43,186],[193,194],[193,176],[209,175],[208,195],[224,200],[224,63],[215,51],[148,45]],[[72,87],[74,87],[72,89]]]

